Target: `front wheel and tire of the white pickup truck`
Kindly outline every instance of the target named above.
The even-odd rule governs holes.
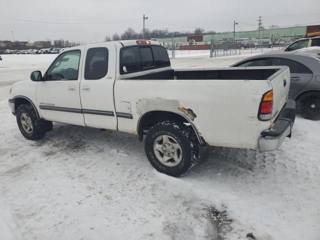
[[[16,109],[16,122],[21,134],[29,140],[37,140],[45,132],[52,130],[52,122],[37,118],[31,104],[19,105]]]

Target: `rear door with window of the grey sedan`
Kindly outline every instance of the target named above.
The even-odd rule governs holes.
[[[288,66],[290,69],[289,98],[292,98],[312,78],[312,71],[302,63],[294,60],[275,57],[271,61],[272,66]]]

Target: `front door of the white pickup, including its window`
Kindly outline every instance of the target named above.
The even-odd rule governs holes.
[[[38,82],[36,100],[44,119],[84,125],[79,95],[83,48],[58,55]]]

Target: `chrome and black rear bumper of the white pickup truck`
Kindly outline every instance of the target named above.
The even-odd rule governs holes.
[[[279,148],[286,136],[291,137],[294,119],[295,101],[288,100],[274,120],[272,127],[261,132],[259,150],[273,151]]]

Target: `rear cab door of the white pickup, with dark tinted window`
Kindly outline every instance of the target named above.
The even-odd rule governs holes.
[[[85,48],[80,99],[87,126],[116,129],[113,84],[116,50],[111,42],[87,45]]]

